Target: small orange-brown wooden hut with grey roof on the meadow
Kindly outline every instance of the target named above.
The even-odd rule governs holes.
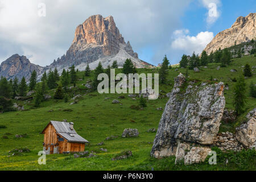
[[[85,143],[89,142],[77,134],[73,126],[72,122],[49,122],[42,131],[44,152],[49,155],[84,151]]]

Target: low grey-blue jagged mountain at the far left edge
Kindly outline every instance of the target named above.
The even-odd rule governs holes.
[[[26,56],[15,54],[1,64],[0,77],[6,77],[8,80],[17,77],[20,81],[24,76],[28,81],[34,70],[38,75],[43,73],[43,67],[30,63]]]

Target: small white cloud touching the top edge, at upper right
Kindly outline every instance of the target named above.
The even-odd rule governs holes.
[[[208,9],[207,23],[213,24],[220,17],[220,10],[218,7],[221,5],[220,0],[201,0],[205,8]]]

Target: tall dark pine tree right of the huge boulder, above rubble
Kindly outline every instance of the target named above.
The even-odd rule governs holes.
[[[243,108],[246,104],[246,84],[245,78],[241,75],[234,86],[234,100],[233,104],[237,115],[243,112]]]

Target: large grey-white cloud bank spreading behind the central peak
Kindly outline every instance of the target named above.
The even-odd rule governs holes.
[[[156,53],[168,43],[169,32],[179,28],[190,1],[0,0],[0,63],[19,53],[32,63],[51,64],[71,46],[76,27],[95,14],[113,15],[134,51],[152,46]],[[46,17],[38,16],[41,2]]]

